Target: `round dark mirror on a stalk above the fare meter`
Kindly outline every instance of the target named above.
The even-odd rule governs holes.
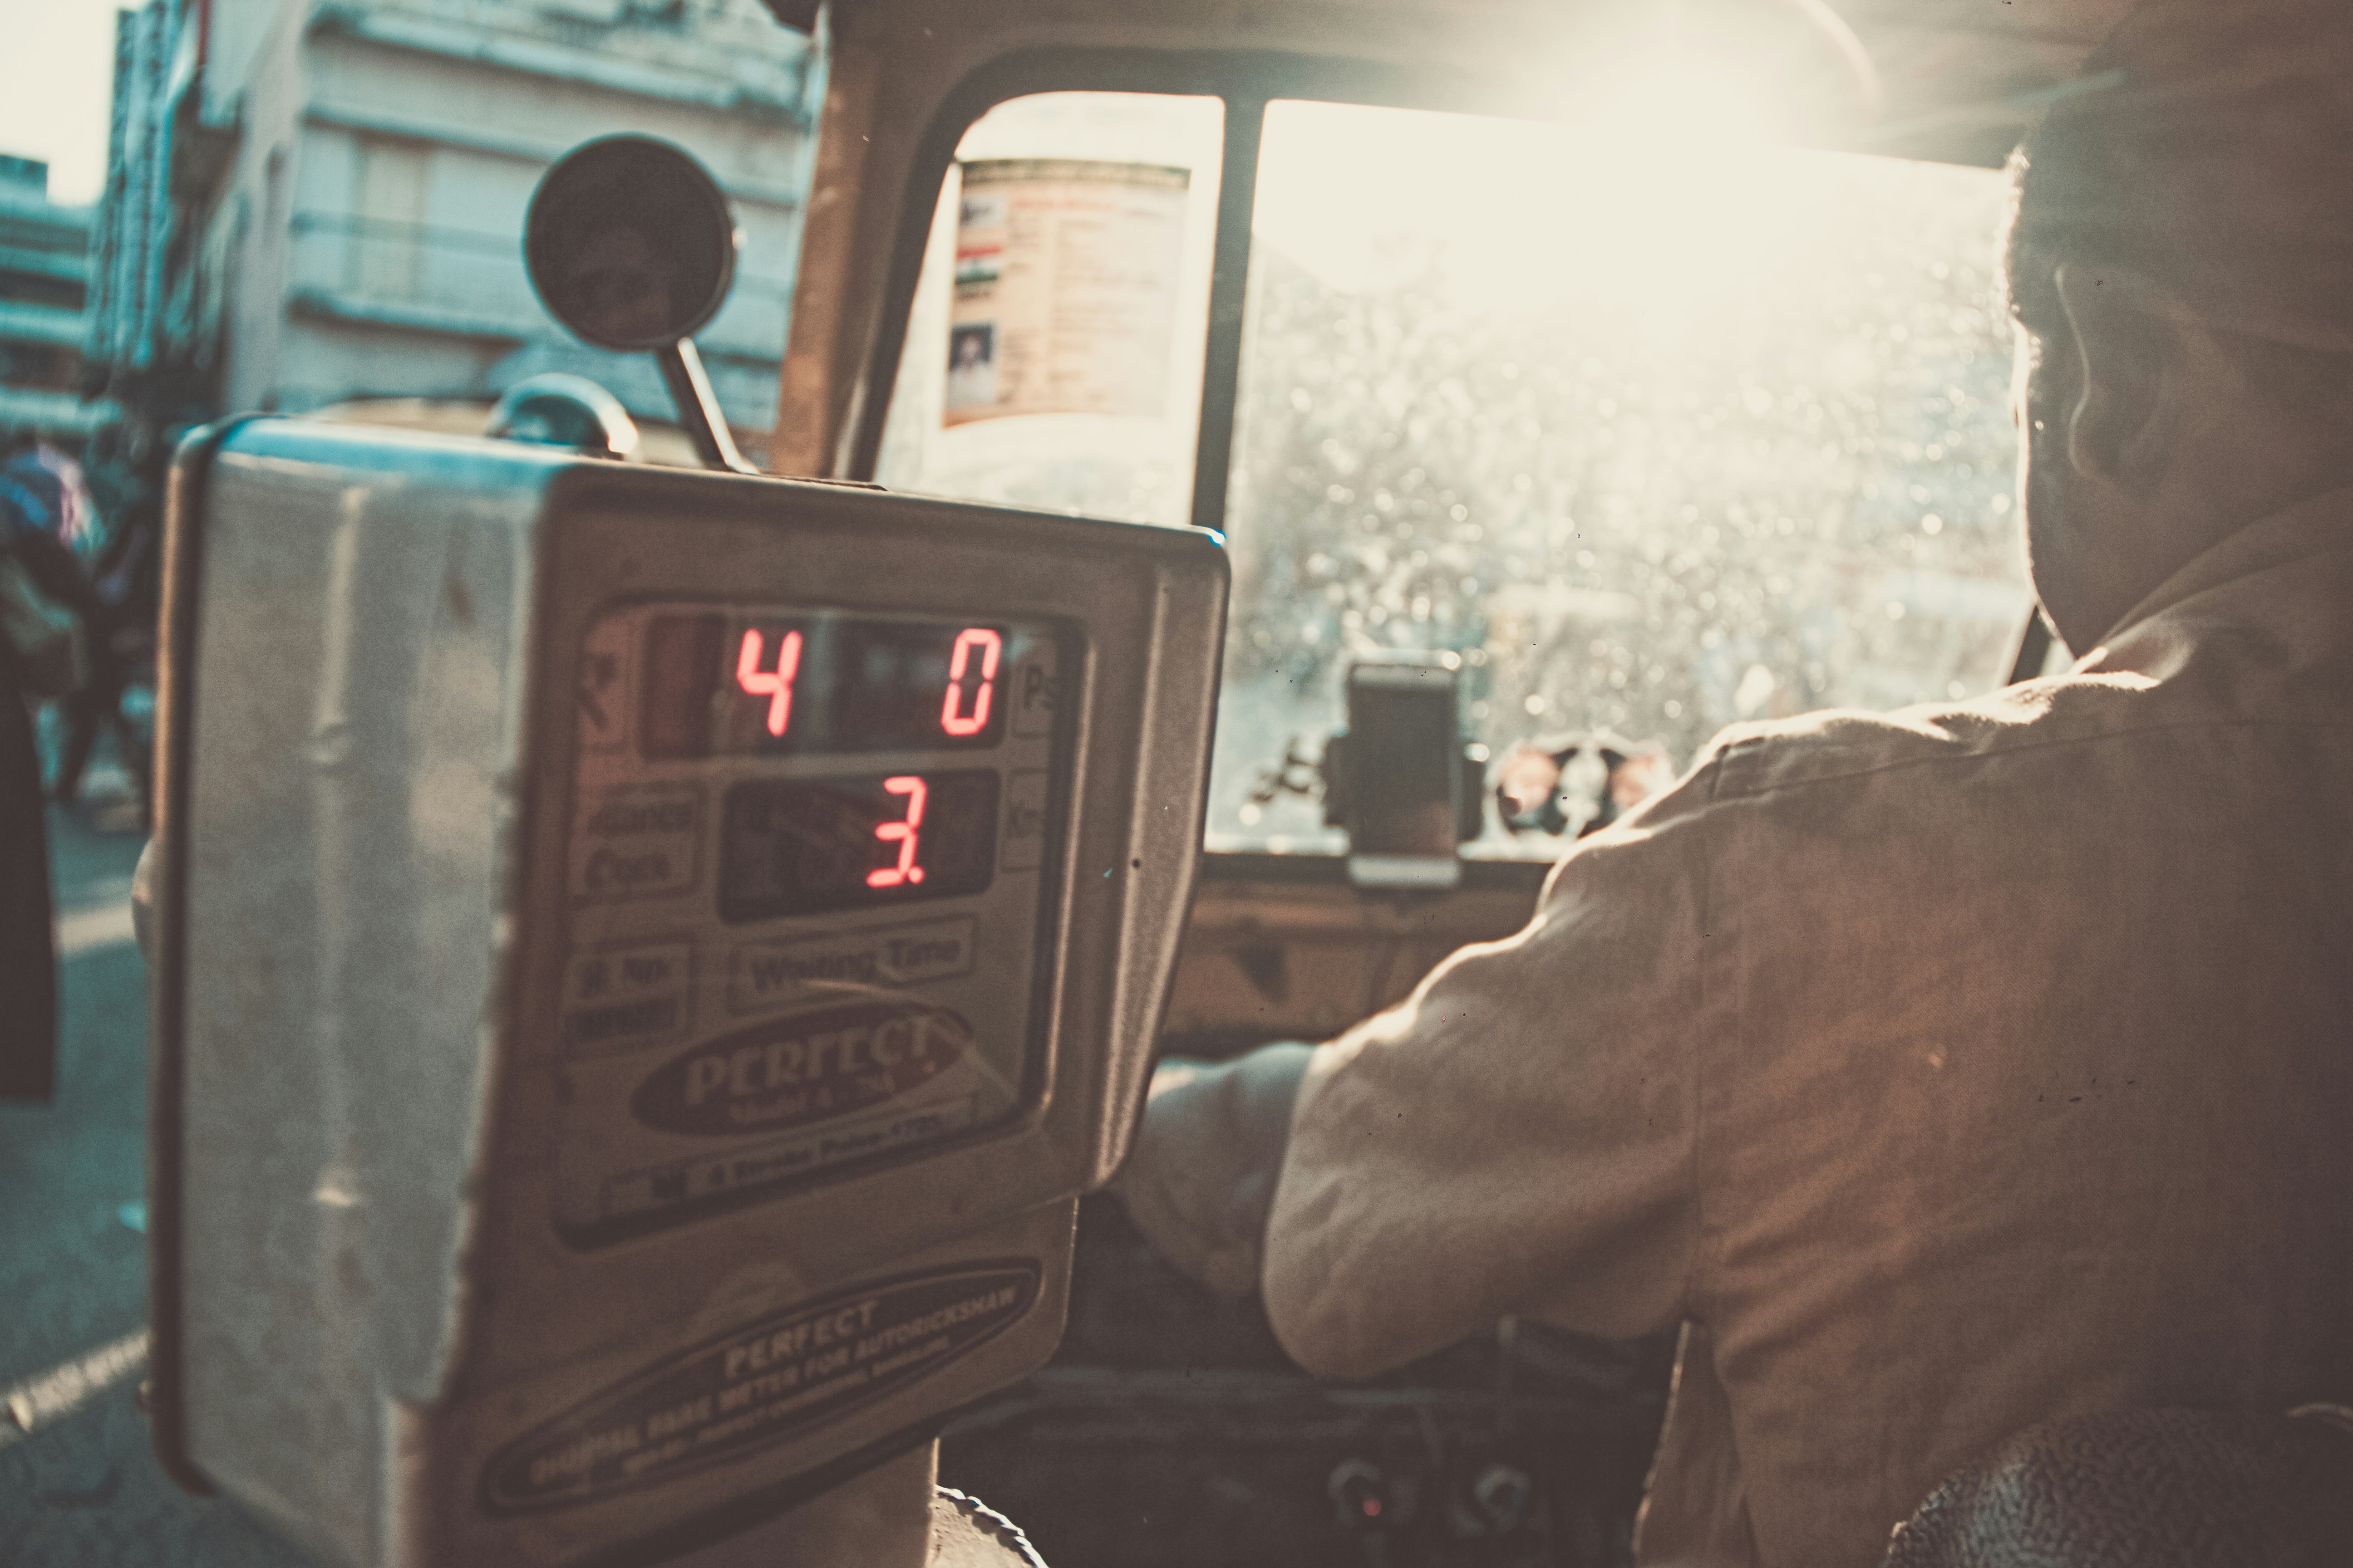
[[[548,315],[598,348],[668,348],[718,315],[734,282],[727,195],[692,155],[605,136],[551,167],[522,223]]]

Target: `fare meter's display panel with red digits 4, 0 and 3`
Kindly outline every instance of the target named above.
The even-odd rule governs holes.
[[[645,604],[588,635],[567,1232],[1014,1117],[1068,783],[1042,621]]]

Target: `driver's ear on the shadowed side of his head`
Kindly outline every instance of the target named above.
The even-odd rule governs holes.
[[[2127,491],[2155,482],[2184,414],[2193,320],[2146,277],[2089,263],[2057,268],[2080,395],[2066,418],[2068,465]]]

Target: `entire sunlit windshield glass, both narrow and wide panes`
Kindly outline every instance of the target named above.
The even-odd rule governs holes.
[[[1219,113],[972,127],[885,484],[1186,520]],[[1522,743],[1600,731],[1666,780],[1734,719],[1998,686],[2028,611],[2000,207],[1991,169],[1271,103],[1209,846],[1344,849],[1313,766],[1273,785],[1384,651],[1459,654],[1489,785]],[[1468,853],[1562,844],[1489,804]]]

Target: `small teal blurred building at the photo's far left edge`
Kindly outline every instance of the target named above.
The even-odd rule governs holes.
[[[68,444],[113,416],[82,402],[89,209],[49,200],[49,165],[0,155],[0,433]]]

